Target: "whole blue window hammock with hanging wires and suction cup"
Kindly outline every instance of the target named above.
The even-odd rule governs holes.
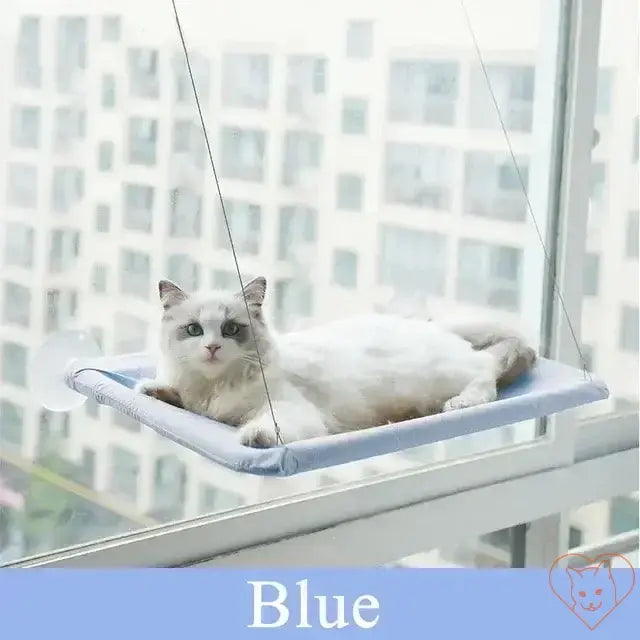
[[[224,209],[224,200],[192,74],[189,53],[175,0],[171,0],[171,2],[178,35],[191,77],[195,102],[226,222],[235,267],[242,287],[238,259]],[[460,2],[494,107],[500,119],[518,181],[526,198],[528,211],[533,219],[547,264],[550,264],[551,261],[535,220],[527,189],[518,168],[495,94],[491,88],[464,0],[460,0]],[[71,408],[73,404],[77,404],[76,398],[91,397],[220,465],[235,471],[257,475],[288,476],[470,435],[523,420],[540,418],[607,398],[609,395],[607,387],[602,382],[593,379],[584,367],[584,358],[555,279],[553,285],[571,330],[576,350],[583,362],[582,370],[540,358],[531,372],[521,376],[510,387],[503,389],[498,399],[493,402],[361,431],[301,440],[286,446],[276,446],[269,449],[244,446],[240,444],[234,427],[136,393],[133,388],[139,379],[153,378],[155,366],[148,357],[127,355],[114,358],[92,358],[60,366],[60,363],[68,362],[69,357],[77,355],[78,352],[84,352],[85,356],[94,355],[89,353],[90,349],[87,352],[87,349],[83,347],[83,336],[74,334],[74,332],[63,332],[59,336],[53,336],[48,343],[43,345],[38,361],[48,364],[44,367],[41,366],[39,372],[36,372],[39,382],[34,386],[36,390],[39,387],[41,395],[49,399],[49,401],[43,401],[43,404],[52,410],[66,410]],[[56,368],[55,372],[52,367]],[[262,378],[268,395],[264,372]],[[78,394],[81,395],[78,396]],[[279,433],[275,420],[274,430],[276,434]]]

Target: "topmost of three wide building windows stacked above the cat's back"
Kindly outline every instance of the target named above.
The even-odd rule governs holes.
[[[458,100],[458,63],[396,60],[389,78],[389,120],[453,125]]]

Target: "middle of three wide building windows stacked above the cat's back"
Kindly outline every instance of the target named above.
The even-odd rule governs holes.
[[[387,202],[433,209],[451,207],[451,149],[392,143],[387,145],[385,155]]]

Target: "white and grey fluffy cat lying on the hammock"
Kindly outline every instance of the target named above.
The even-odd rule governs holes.
[[[263,313],[266,288],[257,277],[200,297],[161,280],[161,363],[137,390],[238,427],[244,445],[271,447],[263,372],[286,444],[491,402],[536,360],[492,324],[371,314],[278,334]]]

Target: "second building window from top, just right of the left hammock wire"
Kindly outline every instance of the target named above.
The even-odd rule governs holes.
[[[262,182],[266,136],[258,129],[222,128],[222,175],[236,180]]]

